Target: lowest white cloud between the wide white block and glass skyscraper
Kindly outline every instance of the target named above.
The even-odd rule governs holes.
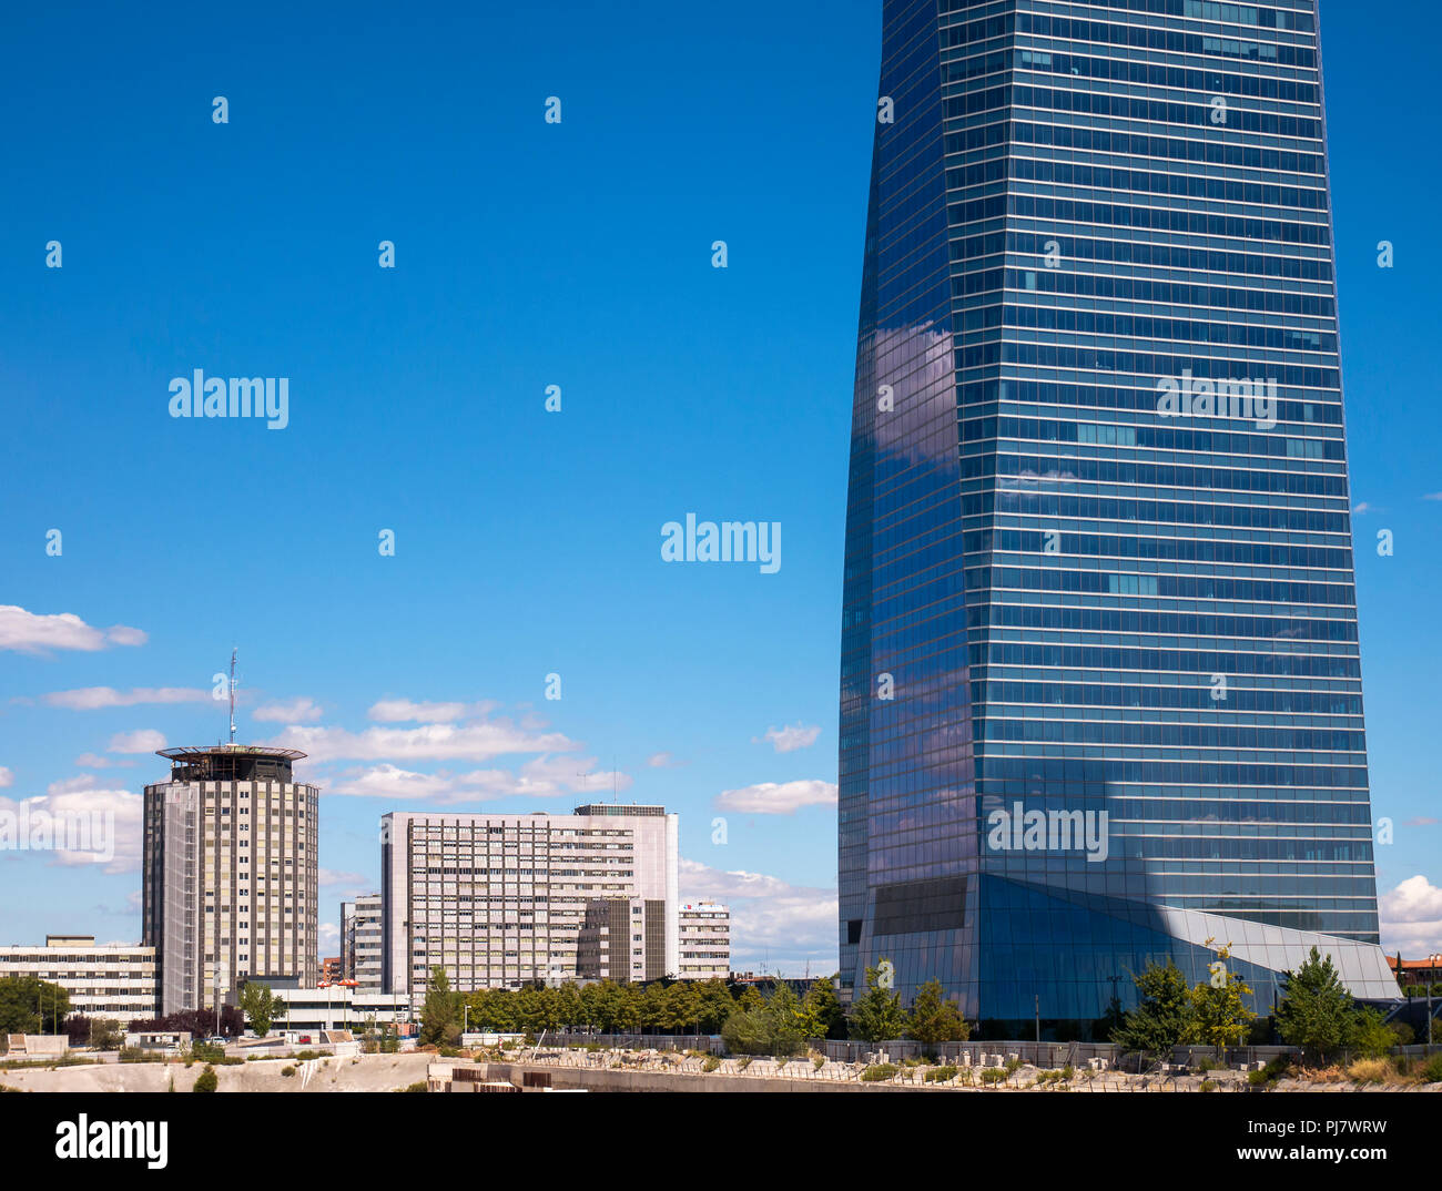
[[[731,968],[829,975],[836,963],[836,891],[792,885],[761,872],[722,872],[681,861],[682,900],[708,898],[731,907]],[[819,960],[819,969],[818,962]]]

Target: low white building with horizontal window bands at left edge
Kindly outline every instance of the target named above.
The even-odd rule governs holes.
[[[35,976],[59,985],[71,995],[69,1014],[120,1022],[156,1015],[154,947],[95,946],[92,934],[46,934],[43,947],[0,947],[4,976]],[[50,1030],[49,1021],[45,1030]]]

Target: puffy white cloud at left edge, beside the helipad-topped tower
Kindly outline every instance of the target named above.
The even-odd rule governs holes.
[[[128,790],[92,789],[92,777],[55,782],[45,794],[19,802],[0,797],[0,831],[16,836],[4,846],[19,848],[23,842],[53,855],[55,864],[136,872],[144,800]]]

